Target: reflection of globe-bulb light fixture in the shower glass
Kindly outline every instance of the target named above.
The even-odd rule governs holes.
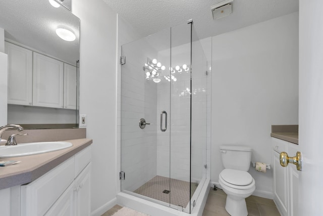
[[[160,62],[157,61],[157,59],[149,59],[147,58],[147,63],[144,63],[144,66],[142,67],[144,71],[144,76],[147,80],[152,80],[156,83],[160,82],[161,79],[165,79],[167,81],[173,80],[174,82],[177,81],[176,76],[179,73],[182,72],[189,72],[189,66],[186,64],[183,64],[182,66],[177,65],[175,69],[173,67],[170,67],[170,71],[166,72],[166,66],[162,65]]]

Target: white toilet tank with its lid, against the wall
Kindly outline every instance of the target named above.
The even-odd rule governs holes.
[[[220,146],[222,163],[226,169],[248,171],[252,149],[248,146]]]

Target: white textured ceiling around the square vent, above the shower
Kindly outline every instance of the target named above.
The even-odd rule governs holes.
[[[233,13],[213,20],[211,6],[223,0],[102,0],[142,36],[193,19],[199,38],[213,36],[298,11],[298,0],[234,0]]]

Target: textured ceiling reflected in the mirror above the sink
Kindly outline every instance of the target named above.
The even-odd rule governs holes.
[[[71,29],[77,39],[59,38],[58,26]],[[7,39],[19,44],[71,64],[79,59],[79,19],[63,7],[52,7],[48,0],[0,1],[0,27]]]

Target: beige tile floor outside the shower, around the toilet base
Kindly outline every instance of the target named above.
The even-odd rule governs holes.
[[[202,216],[230,216],[225,209],[227,194],[218,189],[210,189]],[[280,213],[272,199],[257,196],[246,198],[248,216],[280,216]],[[111,216],[122,206],[115,205],[101,216]]]

